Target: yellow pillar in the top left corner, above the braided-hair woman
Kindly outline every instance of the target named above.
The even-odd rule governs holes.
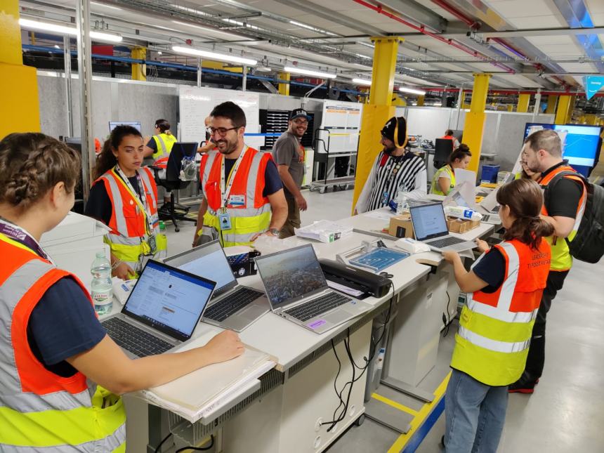
[[[18,0],[0,2],[0,42],[0,139],[13,132],[39,132],[36,68],[23,65]]]

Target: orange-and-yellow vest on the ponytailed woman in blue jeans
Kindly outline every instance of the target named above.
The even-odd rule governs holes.
[[[494,247],[506,261],[504,282],[492,294],[468,294],[459,317],[451,367],[487,386],[508,386],[525,369],[551,251],[546,241],[541,241],[539,249],[517,239]]]

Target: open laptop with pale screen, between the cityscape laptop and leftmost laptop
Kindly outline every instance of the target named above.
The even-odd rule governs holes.
[[[216,281],[204,322],[239,332],[270,309],[263,291],[237,283],[218,241],[164,258],[164,263]]]

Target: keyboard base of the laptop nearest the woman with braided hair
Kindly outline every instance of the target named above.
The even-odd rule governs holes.
[[[117,346],[129,350],[138,357],[162,354],[174,347],[167,341],[159,339],[119,317],[111,317],[103,321],[101,325],[105,327],[107,334],[117,343]]]

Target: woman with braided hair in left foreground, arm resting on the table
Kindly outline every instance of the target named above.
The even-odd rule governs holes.
[[[131,360],[75,275],[40,246],[74,205],[80,157],[41,133],[0,141],[0,452],[125,452],[118,395],[237,357],[237,334]]]

